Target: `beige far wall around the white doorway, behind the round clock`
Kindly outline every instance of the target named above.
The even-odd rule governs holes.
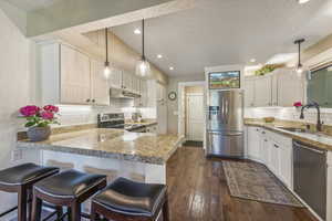
[[[205,81],[204,73],[201,75],[189,75],[189,76],[180,76],[180,77],[169,77],[167,85],[167,94],[169,92],[176,92],[178,95],[178,83],[180,82],[196,82],[196,81]],[[178,126],[178,116],[176,112],[178,110],[178,98],[176,101],[167,101],[167,115],[168,115],[168,133],[177,134]]]

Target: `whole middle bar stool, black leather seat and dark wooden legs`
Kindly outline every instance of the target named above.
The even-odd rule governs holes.
[[[68,207],[69,220],[80,221],[81,204],[104,187],[106,187],[106,176],[90,175],[74,169],[41,180],[33,186],[32,220],[40,221],[42,201],[46,201]]]

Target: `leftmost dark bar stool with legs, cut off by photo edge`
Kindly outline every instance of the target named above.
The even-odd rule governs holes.
[[[32,186],[59,172],[56,167],[42,167],[35,164],[23,164],[0,170],[0,190],[18,193],[18,206],[2,212],[0,218],[18,209],[18,221],[27,221],[27,206],[31,200]],[[29,220],[31,220],[31,203],[29,203]]]

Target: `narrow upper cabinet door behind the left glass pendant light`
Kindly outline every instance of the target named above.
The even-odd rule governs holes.
[[[96,105],[110,105],[108,81],[103,75],[104,64],[91,61],[92,103]]]

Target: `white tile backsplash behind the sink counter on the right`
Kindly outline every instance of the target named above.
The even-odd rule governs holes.
[[[255,107],[246,108],[246,118],[262,118],[262,117],[276,117],[278,119],[294,120],[303,123],[317,123],[317,109],[310,108],[304,110],[304,119],[300,119],[300,109],[295,107]],[[322,108],[321,119],[325,125],[332,125],[332,109]]]

